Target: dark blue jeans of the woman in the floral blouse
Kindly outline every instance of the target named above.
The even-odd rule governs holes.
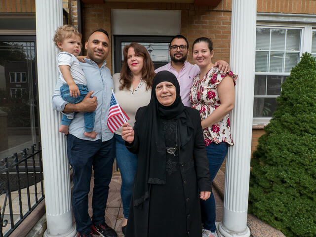
[[[219,144],[211,143],[206,147],[211,182],[213,182],[213,179],[221,167],[226,157],[227,151],[228,144],[226,142],[221,142]],[[211,196],[205,201],[200,199],[200,204],[204,229],[215,232],[216,206],[213,193],[211,193]]]

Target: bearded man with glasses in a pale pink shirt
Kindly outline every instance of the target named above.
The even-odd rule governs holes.
[[[182,36],[174,36],[169,44],[170,63],[155,70],[155,73],[160,71],[169,71],[174,74],[180,84],[180,96],[185,106],[191,106],[189,93],[193,83],[193,79],[199,73],[199,68],[195,64],[187,62],[189,53],[189,42]],[[214,64],[214,67],[224,73],[230,70],[229,64],[224,60],[219,60]]]

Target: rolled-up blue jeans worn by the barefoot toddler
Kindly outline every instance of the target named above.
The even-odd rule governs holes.
[[[81,102],[89,91],[88,91],[88,87],[86,85],[77,84],[77,86],[78,86],[79,91],[80,91],[80,95],[77,98],[70,96],[70,91],[69,91],[68,84],[63,84],[60,87],[61,97],[65,101],[67,101],[68,103],[71,103],[71,104],[77,104],[77,103]],[[84,117],[84,131],[86,131],[86,132],[92,132],[93,131],[94,116],[95,116],[95,111],[93,111],[93,112],[84,112],[83,113],[83,117]],[[69,126],[71,121],[72,121],[72,119],[67,118],[66,115],[63,115],[63,117],[61,118],[61,124],[62,125]]]

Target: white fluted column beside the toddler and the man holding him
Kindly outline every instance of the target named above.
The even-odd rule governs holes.
[[[36,0],[36,40],[40,104],[40,134],[47,230],[44,237],[75,237],[72,218],[69,164],[65,136],[58,132],[60,113],[51,97],[57,80],[53,36],[63,25],[62,0]]]

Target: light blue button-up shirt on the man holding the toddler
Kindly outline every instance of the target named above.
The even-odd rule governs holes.
[[[97,97],[98,106],[95,110],[94,118],[94,131],[98,133],[95,139],[84,136],[84,118],[83,112],[76,114],[75,118],[69,125],[69,133],[78,137],[79,139],[96,141],[102,139],[102,141],[108,141],[113,137],[113,133],[109,130],[107,125],[107,118],[110,108],[111,100],[111,88],[114,87],[111,77],[110,69],[103,63],[102,67],[99,66],[90,59],[84,59],[85,63],[80,62],[80,66],[87,79],[87,87],[89,91],[94,91],[92,96]],[[62,81],[58,79],[54,94],[52,97],[53,108],[59,112],[62,112],[65,108],[66,102],[60,95],[60,86]],[[72,117],[73,114],[66,114]]]

